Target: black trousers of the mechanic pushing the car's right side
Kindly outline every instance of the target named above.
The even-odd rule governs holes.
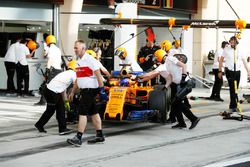
[[[185,104],[184,99],[176,99],[176,93],[177,93],[177,84],[172,83],[171,84],[171,96],[174,96],[174,99],[171,104],[171,112],[176,116],[177,121],[179,124],[184,125],[185,121],[183,118],[182,113],[191,121],[194,122],[197,117],[192,113],[190,108]],[[173,94],[172,94],[173,93]]]

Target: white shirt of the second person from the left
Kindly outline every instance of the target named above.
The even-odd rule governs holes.
[[[29,48],[25,44],[20,44],[19,46],[16,47],[16,60],[23,66],[28,65],[26,56],[30,54]]]

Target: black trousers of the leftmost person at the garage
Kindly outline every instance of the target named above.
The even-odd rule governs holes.
[[[5,61],[4,65],[7,72],[7,91],[15,92],[16,88],[14,85],[14,75],[16,71],[16,63]]]

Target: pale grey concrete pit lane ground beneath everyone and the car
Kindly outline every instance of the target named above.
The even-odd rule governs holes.
[[[239,97],[249,93],[239,90]],[[48,167],[198,167],[228,166],[250,161],[250,121],[223,120],[218,113],[228,108],[224,102],[190,100],[192,111],[201,118],[193,130],[172,129],[172,124],[149,122],[103,122],[104,144],[76,148],[66,143],[73,134],[59,136],[55,117],[46,126],[47,134],[33,124],[45,106],[33,106],[36,97],[0,96],[0,166]],[[210,96],[209,89],[194,89],[189,96]],[[241,105],[248,114],[250,105]],[[187,125],[190,122],[187,120]],[[76,125],[69,125],[76,130]],[[95,135],[91,122],[86,141]]]

